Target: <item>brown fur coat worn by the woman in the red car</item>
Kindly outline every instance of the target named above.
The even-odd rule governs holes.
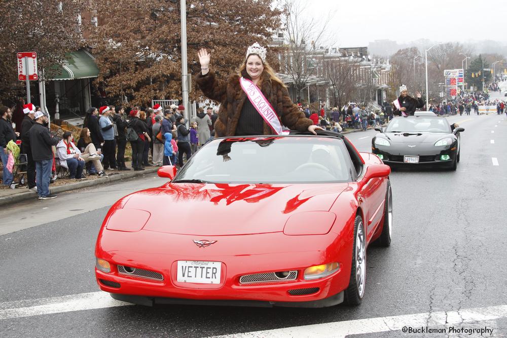
[[[213,71],[209,71],[204,76],[199,73],[197,76],[197,86],[204,95],[221,103],[219,118],[214,124],[215,137],[236,135],[241,109],[245,100],[248,99],[241,89],[239,78],[238,74],[231,74],[227,81],[219,80]],[[287,128],[303,132],[313,124],[305,117],[304,112],[299,111],[298,106],[292,102],[285,87],[265,78],[261,91],[271,103],[282,124]],[[264,135],[273,134],[274,131],[264,122]]]

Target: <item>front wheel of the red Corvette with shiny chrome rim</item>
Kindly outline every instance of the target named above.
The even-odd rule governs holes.
[[[366,234],[363,218],[356,215],[354,220],[354,243],[349,286],[344,291],[347,305],[359,305],[363,301],[366,286]]]

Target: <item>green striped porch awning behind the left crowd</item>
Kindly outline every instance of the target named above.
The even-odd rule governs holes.
[[[53,66],[51,73],[54,76],[48,80],[77,80],[96,78],[99,70],[95,58],[88,51],[81,49],[68,53],[63,65]]]

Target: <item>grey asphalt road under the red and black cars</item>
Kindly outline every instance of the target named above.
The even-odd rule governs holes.
[[[403,333],[394,324],[393,330],[379,333],[380,324],[375,324],[377,318],[387,322],[385,317],[392,317],[398,325],[405,321],[412,325],[418,323],[418,317],[406,315],[419,314],[427,317],[423,322],[437,328],[455,323],[455,327],[465,329],[492,328],[488,336],[507,336],[507,312],[496,317],[485,315],[493,311],[492,307],[504,309],[507,305],[507,120],[505,115],[454,116],[448,120],[465,128],[458,169],[391,173],[393,240],[387,249],[368,250],[366,295],[359,307],[147,308],[111,302],[102,308],[93,308],[92,304],[90,310],[79,310],[79,305],[77,311],[48,310],[48,304],[63,299],[55,297],[69,296],[78,299],[76,304],[83,304],[88,293],[92,293],[90,297],[98,293],[94,244],[101,221],[120,195],[164,181],[147,177],[2,208],[0,335],[346,336],[343,332],[348,332],[361,337],[443,336]],[[370,151],[375,133],[371,130],[347,137],[359,151]],[[84,301],[80,303],[81,298]],[[476,308],[478,315],[467,317],[467,309]],[[436,318],[442,314],[445,322],[438,324]],[[312,324],[316,325],[308,326]],[[340,331],[343,327],[346,331]],[[329,331],[334,328],[336,331]],[[450,336],[476,335],[462,332]]]

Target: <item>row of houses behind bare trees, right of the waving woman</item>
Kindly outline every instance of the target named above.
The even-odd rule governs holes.
[[[331,93],[334,90],[332,65],[347,67],[348,82],[356,87],[356,95],[348,101],[366,103],[371,108],[380,109],[387,99],[391,65],[388,59],[374,58],[368,53],[368,47],[316,47],[313,42],[295,46],[287,42],[284,33],[273,37],[272,47],[282,48],[278,56],[280,72],[278,76],[288,85],[294,102],[318,102],[330,107],[337,105]],[[300,63],[300,64],[298,64]],[[301,76],[303,74],[303,76]],[[303,83],[301,83],[303,82]],[[362,92],[362,93],[361,93]],[[359,94],[361,93],[361,94]]]

